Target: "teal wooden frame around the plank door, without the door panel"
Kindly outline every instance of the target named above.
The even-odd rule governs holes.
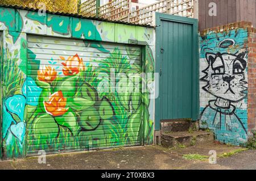
[[[195,45],[192,47],[192,59],[193,59],[193,67],[192,67],[192,120],[199,119],[199,34],[198,34],[198,19],[193,18],[185,18],[176,15],[169,15],[169,14],[162,14],[159,12],[155,13],[155,24],[156,24],[156,73],[160,73],[161,67],[161,60],[163,58],[163,54],[160,53],[162,41],[162,34],[163,34],[163,27],[160,26],[161,21],[168,21],[168,22],[177,22],[177,23],[184,23],[184,24],[191,24],[192,28],[192,44]],[[159,76],[159,94],[160,94],[160,76]],[[155,100],[155,131],[160,130],[160,98]]]

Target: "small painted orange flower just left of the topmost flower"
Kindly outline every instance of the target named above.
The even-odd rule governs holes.
[[[57,71],[51,66],[44,66],[43,70],[38,70],[38,79],[43,82],[52,82],[57,77]]]

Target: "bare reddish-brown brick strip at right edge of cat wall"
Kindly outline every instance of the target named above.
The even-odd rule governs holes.
[[[256,30],[248,28],[248,129],[256,127]]]

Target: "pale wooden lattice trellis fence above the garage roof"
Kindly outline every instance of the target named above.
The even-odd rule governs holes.
[[[162,0],[131,11],[130,0],[113,0],[100,6],[98,0],[88,0],[81,4],[80,13],[85,16],[98,16],[110,20],[154,25],[155,12],[193,18],[195,0]]]

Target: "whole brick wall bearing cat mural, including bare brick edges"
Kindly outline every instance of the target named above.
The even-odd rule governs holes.
[[[245,145],[255,128],[255,31],[237,22],[204,30],[200,38],[200,127],[219,142]]]

